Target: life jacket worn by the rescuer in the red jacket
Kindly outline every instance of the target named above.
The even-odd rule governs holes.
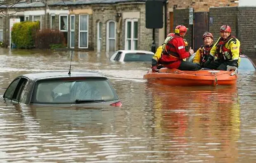
[[[164,44],[163,44],[163,53],[162,53],[163,55],[170,55],[170,56],[172,56],[176,59],[180,59],[179,53],[177,53],[175,51],[171,51],[171,50],[167,52],[166,47],[165,47],[167,45],[167,46],[170,46],[171,49],[172,48],[175,49],[175,46],[173,44],[171,44],[170,41],[174,38],[177,38],[177,37],[181,37],[181,36],[179,36],[177,34],[173,34],[171,36],[166,37],[166,39],[164,40]]]

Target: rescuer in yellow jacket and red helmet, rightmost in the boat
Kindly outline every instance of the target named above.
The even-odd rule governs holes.
[[[227,70],[227,66],[238,67],[240,53],[240,41],[231,36],[230,26],[222,25],[220,27],[220,38],[210,51],[212,57],[209,57],[204,66],[217,70]]]

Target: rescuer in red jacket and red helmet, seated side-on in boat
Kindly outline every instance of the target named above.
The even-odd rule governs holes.
[[[175,33],[168,34],[162,46],[161,58],[159,60],[152,60],[152,69],[157,64],[161,64],[167,68],[175,68],[180,70],[197,71],[201,66],[192,62],[186,62],[183,59],[190,57],[194,53],[191,49],[185,50],[184,36],[187,28],[184,25],[178,25],[175,28]]]

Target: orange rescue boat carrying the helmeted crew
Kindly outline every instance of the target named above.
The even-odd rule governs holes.
[[[235,85],[237,83],[237,69],[236,67],[228,67],[227,71],[181,71],[162,68],[158,72],[152,72],[150,69],[143,78],[148,83],[171,86]]]

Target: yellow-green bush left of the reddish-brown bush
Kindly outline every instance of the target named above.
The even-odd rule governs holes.
[[[39,29],[39,21],[23,21],[20,23],[15,23],[12,27],[12,42],[17,46],[17,48],[33,48],[36,32]]]

